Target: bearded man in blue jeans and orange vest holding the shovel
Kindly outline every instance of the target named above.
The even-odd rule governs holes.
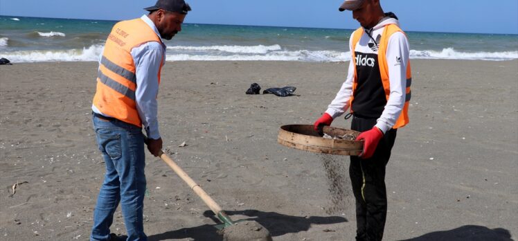
[[[160,72],[166,61],[166,45],[190,11],[184,0],[158,0],[145,8],[139,19],[115,24],[100,56],[93,127],[105,161],[105,180],[100,188],[90,240],[116,240],[110,234],[120,202],[127,240],[147,240],[143,229],[145,193],[145,136],[155,157],[162,149],[157,119]]]

